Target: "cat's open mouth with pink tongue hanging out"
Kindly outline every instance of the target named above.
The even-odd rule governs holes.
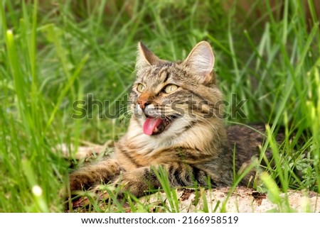
[[[144,134],[146,135],[156,135],[162,133],[166,128],[170,126],[172,121],[177,118],[177,116],[170,116],[166,118],[146,116],[146,121],[144,121]]]

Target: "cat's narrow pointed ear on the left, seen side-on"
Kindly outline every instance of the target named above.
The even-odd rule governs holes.
[[[146,46],[142,43],[138,43],[138,55],[137,55],[137,63],[136,69],[139,70],[141,68],[157,65],[162,62],[159,57],[157,57],[151,50],[146,48]]]

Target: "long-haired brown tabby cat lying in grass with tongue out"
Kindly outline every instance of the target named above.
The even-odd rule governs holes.
[[[250,162],[263,137],[247,127],[225,128],[214,62],[206,41],[182,62],[161,60],[139,43],[131,92],[134,114],[127,133],[115,144],[113,157],[71,173],[70,189],[115,183],[122,191],[143,196],[149,189],[161,188],[155,174],[159,167],[172,187],[232,184],[234,166],[238,172]],[[250,183],[250,175],[240,184]]]

